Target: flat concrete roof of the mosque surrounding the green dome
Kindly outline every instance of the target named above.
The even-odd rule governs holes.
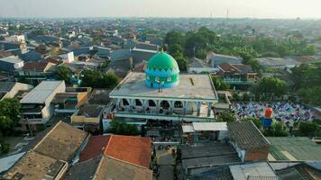
[[[132,72],[117,85],[111,97],[161,97],[168,99],[217,100],[216,90],[208,75],[179,75],[179,85],[161,92],[145,85],[145,74]]]

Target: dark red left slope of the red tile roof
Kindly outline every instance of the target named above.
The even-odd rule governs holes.
[[[97,157],[104,152],[104,148],[109,142],[110,136],[92,136],[88,140],[86,148],[81,152],[79,162]]]

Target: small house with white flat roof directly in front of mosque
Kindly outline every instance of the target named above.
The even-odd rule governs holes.
[[[183,142],[197,143],[227,138],[226,122],[192,122],[182,125]]]

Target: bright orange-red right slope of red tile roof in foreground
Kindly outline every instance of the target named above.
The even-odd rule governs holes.
[[[112,135],[105,155],[125,162],[149,168],[151,163],[151,139]]]

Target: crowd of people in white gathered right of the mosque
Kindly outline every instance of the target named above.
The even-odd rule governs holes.
[[[231,109],[237,120],[247,117],[264,117],[266,108],[273,110],[272,118],[277,121],[312,121],[311,110],[298,103],[232,103]]]

